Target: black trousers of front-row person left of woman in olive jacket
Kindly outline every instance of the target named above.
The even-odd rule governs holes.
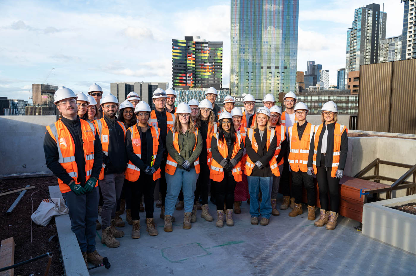
[[[153,218],[154,212],[154,189],[156,181],[153,180],[153,176],[141,172],[137,181],[128,181],[131,191],[131,219],[140,219],[140,199],[144,195],[144,210],[146,210],[146,218]]]

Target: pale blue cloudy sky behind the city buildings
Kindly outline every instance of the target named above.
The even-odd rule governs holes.
[[[336,84],[354,9],[370,2],[300,0],[297,70],[314,60]],[[386,37],[401,34],[403,6],[384,4]],[[0,96],[28,100],[48,74],[46,83],[84,92],[92,83],[105,92],[118,81],[171,83],[171,39],[188,35],[223,41],[229,87],[230,0],[3,0],[0,10]]]

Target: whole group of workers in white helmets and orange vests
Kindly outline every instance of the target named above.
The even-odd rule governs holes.
[[[324,103],[322,124],[315,126],[306,120],[308,107],[292,92],[284,96],[285,112],[272,94],[264,96],[264,106],[256,111],[253,95],[245,95],[244,112],[229,95],[223,109],[219,107],[213,87],[205,97],[175,107],[175,90],[157,88],[151,110],[135,92],[119,103],[114,95],[103,95],[96,83],[88,95],[66,87],[55,92],[62,117],[47,126],[46,164],[58,177],[87,266],[103,259],[95,248],[96,229],[102,229],[101,242],[107,247],[120,245],[124,210],[131,238],[140,238],[140,211],[145,211],[149,235],[158,234],[153,215],[156,183],[156,207],[161,208],[164,231],[172,232],[175,209],[184,209],[184,229],[196,222],[197,210],[203,219],[214,220],[209,194],[216,205],[217,227],[224,221],[234,225],[233,213],[241,213],[242,201],[250,205],[252,225],[258,225],[260,217],[260,225],[268,225],[271,215],[279,215],[279,192],[280,209],[291,208],[290,217],[301,215],[302,183],[308,220],[315,220],[316,176],[320,215],[314,225],[335,229],[348,151],[337,105]]]

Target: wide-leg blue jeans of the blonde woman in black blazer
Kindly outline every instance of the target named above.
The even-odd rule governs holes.
[[[272,204],[270,203],[270,189],[272,188],[272,176],[247,176],[248,192],[250,193],[250,215],[258,217],[261,215],[267,219],[272,214]],[[262,201],[259,209],[259,186],[262,193]]]

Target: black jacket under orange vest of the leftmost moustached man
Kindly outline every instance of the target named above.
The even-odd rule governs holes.
[[[68,128],[69,133],[72,136],[75,144],[75,162],[77,162],[78,170],[78,182],[84,186],[85,185],[85,157],[84,149],[82,145],[82,131],[79,117],[76,120],[69,120],[62,117],[61,122]],[[43,140],[43,149],[45,151],[46,166],[52,171],[52,173],[61,179],[65,184],[69,184],[72,181],[72,177],[68,175],[67,171],[59,164],[59,153],[58,146],[55,140],[50,136],[47,131],[45,134],[45,139]],[[95,134],[95,143],[94,143],[94,164],[92,166],[91,177],[99,177],[100,170],[102,168],[102,146],[98,132]]]

